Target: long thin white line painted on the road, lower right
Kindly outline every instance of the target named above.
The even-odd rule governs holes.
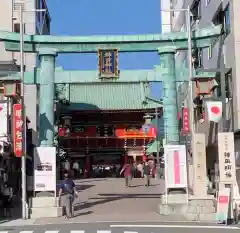
[[[240,230],[239,227],[230,226],[200,226],[200,225],[110,225],[111,228],[137,227],[137,228],[196,228],[196,229],[229,229]]]

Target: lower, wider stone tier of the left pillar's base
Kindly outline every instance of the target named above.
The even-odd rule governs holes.
[[[51,218],[63,216],[63,207],[38,207],[30,209],[30,218]]]

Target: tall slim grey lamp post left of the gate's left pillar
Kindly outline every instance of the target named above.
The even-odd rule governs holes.
[[[19,5],[19,21],[20,21],[20,78],[21,78],[21,106],[22,106],[22,218],[27,219],[27,184],[26,184],[26,111],[24,104],[24,23],[23,12],[45,12],[46,9],[25,10],[24,2],[15,2]]]

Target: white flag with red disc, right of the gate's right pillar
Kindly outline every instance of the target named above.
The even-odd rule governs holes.
[[[222,102],[206,101],[208,120],[218,123],[222,118]]]

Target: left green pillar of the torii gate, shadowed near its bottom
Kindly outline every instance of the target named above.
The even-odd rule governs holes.
[[[55,57],[53,49],[40,50],[40,146],[54,144],[54,75]]]

